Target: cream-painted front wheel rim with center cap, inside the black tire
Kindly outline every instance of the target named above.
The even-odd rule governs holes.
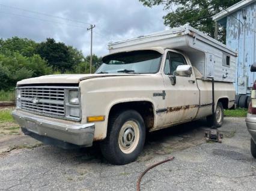
[[[120,129],[118,144],[123,153],[129,154],[135,150],[139,142],[139,126],[130,120],[124,123]]]

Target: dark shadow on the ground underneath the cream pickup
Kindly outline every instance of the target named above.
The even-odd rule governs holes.
[[[156,155],[171,154],[173,151],[183,150],[204,143],[204,130],[207,128],[206,125],[206,120],[198,120],[177,125],[172,128],[148,132],[144,150],[136,162],[147,161],[153,159]],[[108,163],[100,153],[99,143],[95,143],[93,147],[72,150],[64,150],[54,146],[50,147],[52,147],[56,153],[63,152],[67,157],[73,157],[73,160],[77,160],[79,163]],[[46,149],[46,151],[50,150]]]

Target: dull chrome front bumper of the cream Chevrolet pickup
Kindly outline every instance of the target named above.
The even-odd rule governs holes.
[[[38,136],[31,136],[40,141],[46,140],[44,138],[49,137],[58,140],[58,143],[62,141],[84,147],[93,145],[94,123],[79,124],[51,117],[38,116],[20,110],[14,110],[12,116],[23,132],[26,131],[31,132],[31,134],[40,135],[40,138],[37,138]],[[44,138],[42,139],[42,137]]]

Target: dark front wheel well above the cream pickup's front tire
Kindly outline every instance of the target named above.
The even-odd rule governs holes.
[[[122,102],[116,105],[113,105],[109,111],[109,118],[123,110],[135,110],[141,114],[141,117],[144,120],[145,127],[147,129],[153,128],[154,126],[154,111],[153,104],[148,101],[133,101],[133,102]]]

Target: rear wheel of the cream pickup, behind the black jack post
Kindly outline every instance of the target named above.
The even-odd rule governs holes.
[[[207,116],[206,120],[209,126],[213,126],[214,124],[216,125],[216,128],[222,126],[224,120],[224,110],[221,102],[218,102],[216,105],[215,117],[213,115]]]

